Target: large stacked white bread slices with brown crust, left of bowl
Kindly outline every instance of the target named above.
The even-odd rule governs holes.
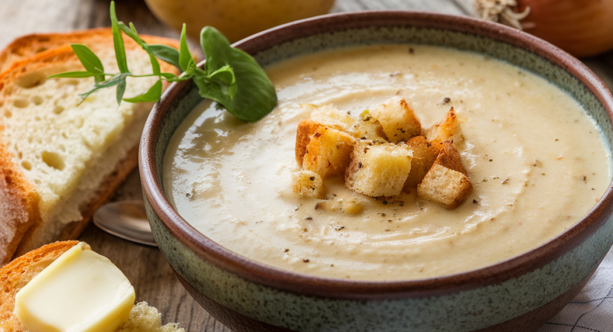
[[[31,50],[23,47],[25,58],[13,56],[17,61],[0,74],[0,263],[80,235],[95,209],[136,167],[152,106],[121,102],[118,107],[114,88],[81,102],[79,94],[93,88],[93,78],[47,78],[84,70],[67,42],[88,45],[105,72],[119,72],[110,28],[76,32],[74,38],[45,36],[49,49],[28,56]],[[178,47],[177,40],[143,39]],[[150,73],[148,54],[132,40],[124,42],[131,72]],[[15,53],[15,45],[19,40],[9,45],[9,53]],[[161,66],[162,72],[178,74],[170,64]],[[128,78],[124,96],[146,92],[155,80]]]

